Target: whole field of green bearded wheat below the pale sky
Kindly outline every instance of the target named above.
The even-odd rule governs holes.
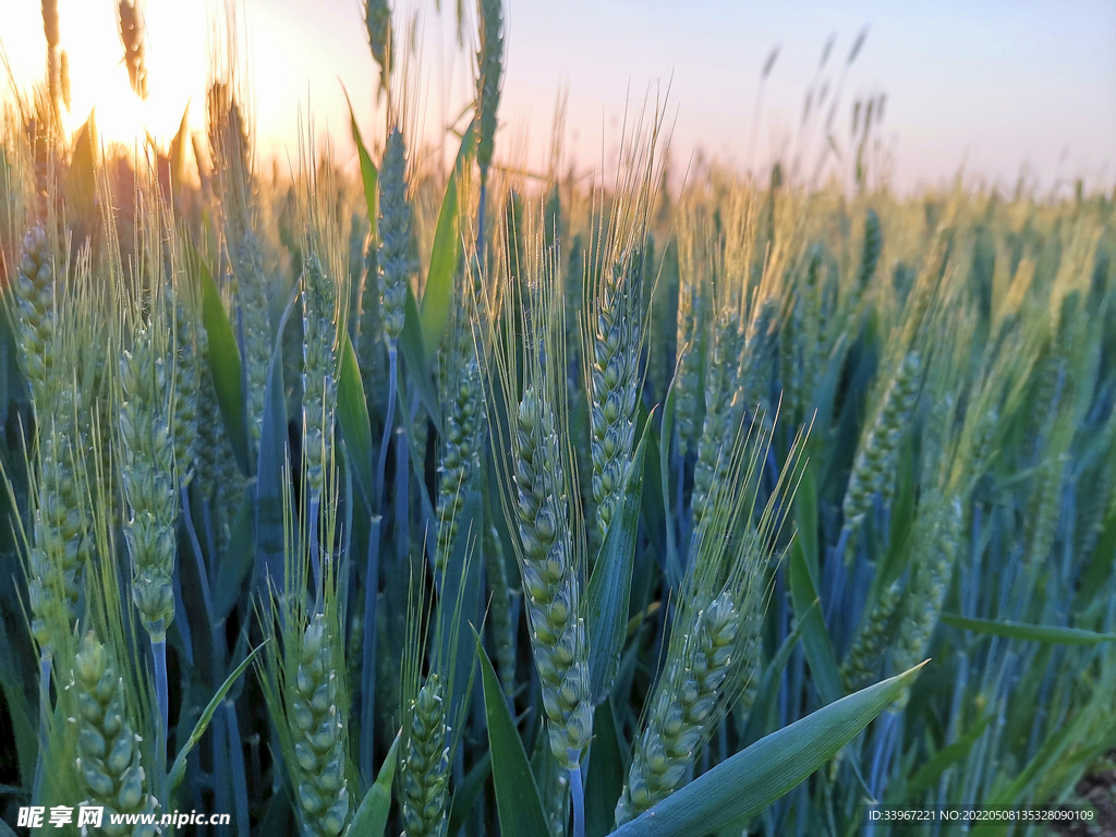
[[[897,198],[883,95],[829,128],[831,42],[816,171],[675,183],[654,95],[607,179],[565,157],[561,103],[531,171],[501,0],[439,11],[475,81],[444,158],[386,0],[353,13],[379,74],[358,177],[312,129],[257,156],[233,17],[204,131],[104,145],[62,128],[78,68],[41,11],[46,76],[0,126],[6,821],[1113,816],[1083,796],[1116,751],[1112,195]],[[142,4],[116,16],[157,97]]]

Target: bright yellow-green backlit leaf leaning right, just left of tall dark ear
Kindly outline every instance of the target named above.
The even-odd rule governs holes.
[[[473,140],[473,126],[470,123],[461,138],[461,147],[450,173],[450,182],[445,184],[445,196],[442,209],[437,213],[437,227],[434,229],[434,243],[430,252],[430,270],[426,273],[426,285],[422,294],[422,336],[426,355],[437,352],[445,334],[445,324],[450,320],[450,307],[453,305],[453,275],[461,261],[461,218],[458,210],[458,184],[469,171],[469,161],[477,148]]]

